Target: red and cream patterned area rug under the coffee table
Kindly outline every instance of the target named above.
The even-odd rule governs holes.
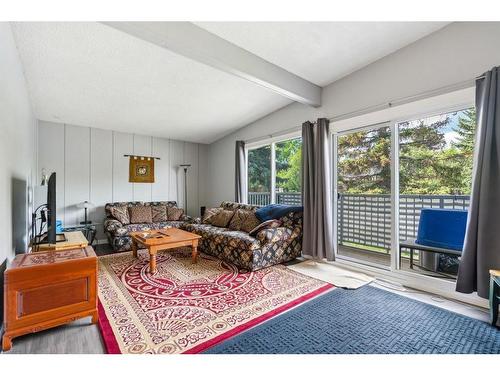
[[[333,285],[283,265],[239,272],[190,249],[99,257],[99,326],[108,353],[199,353]]]

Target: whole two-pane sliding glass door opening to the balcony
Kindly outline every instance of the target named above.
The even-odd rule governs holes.
[[[404,242],[417,237],[422,209],[468,209],[475,117],[474,108],[443,111],[334,134],[339,258],[456,276],[458,256],[414,250],[410,257]]]

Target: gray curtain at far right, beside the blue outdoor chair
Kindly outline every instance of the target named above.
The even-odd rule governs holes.
[[[476,82],[477,130],[464,250],[457,291],[488,297],[489,270],[500,269],[500,84],[498,68]]]

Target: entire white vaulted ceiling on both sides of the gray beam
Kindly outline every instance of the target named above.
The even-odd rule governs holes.
[[[197,23],[324,86],[444,23]],[[107,25],[13,23],[38,119],[211,143],[292,101]]]

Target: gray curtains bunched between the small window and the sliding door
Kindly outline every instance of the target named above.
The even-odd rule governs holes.
[[[334,260],[329,128],[330,122],[324,118],[316,124],[302,124],[302,252]]]

